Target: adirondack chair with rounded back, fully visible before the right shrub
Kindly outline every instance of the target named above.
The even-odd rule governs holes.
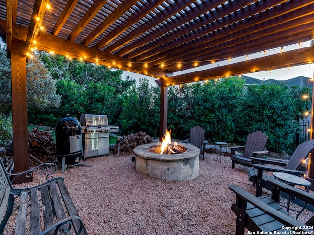
[[[265,145],[268,140],[268,136],[266,136],[262,131],[256,131],[250,133],[247,136],[245,146],[235,146],[229,147],[231,150],[232,160],[232,168],[235,168],[236,164],[251,166],[253,160],[250,157],[260,157],[263,154],[267,154],[269,151],[265,150]],[[242,156],[235,155],[235,149],[243,149]]]

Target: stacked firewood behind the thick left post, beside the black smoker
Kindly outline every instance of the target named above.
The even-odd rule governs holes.
[[[28,130],[29,164],[32,167],[47,162],[57,162],[56,145],[53,141],[52,132],[39,130],[39,127]],[[13,169],[14,153],[12,144],[5,149],[4,153],[1,153],[1,156],[7,171]]]

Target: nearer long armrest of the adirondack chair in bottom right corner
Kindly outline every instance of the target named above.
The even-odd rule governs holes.
[[[235,192],[237,197],[240,197],[244,201],[251,203],[252,205],[257,207],[261,211],[265,212],[266,214],[270,215],[272,218],[276,219],[280,223],[286,226],[295,226],[295,227],[300,226],[298,228],[304,227],[304,224],[302,224],[301,222],[297,221],[291,216],[287,216],[283,214],[282,212],[277,211],[276,209],[268,206],[267,204],[259,200],[257,197],[255,197],[251,193],[245,191],[243,188],[240,188],[236,185],[229,185],[229,189]],[[238,199],[236,201],[238,202]]]

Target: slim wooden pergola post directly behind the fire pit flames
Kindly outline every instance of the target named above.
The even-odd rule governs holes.
[[[160,87],[160,131],[159,141],[162,141],[162,137],[166,134],[167,130],[167,118],[168,118],[168,87]]]

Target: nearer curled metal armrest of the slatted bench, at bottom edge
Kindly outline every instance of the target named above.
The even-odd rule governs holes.
[[[45,235],[54,228],[55,228],[54,234],[57,234],[57,231],[59,230],[62,231],[63,233],[68,233],[71,231],[71,228],[73,227],[72,220],[75,220],[76,223],[79,223],[79,229],[78,231],[76,231],[76,235],[80,235],[83,229],[83,220],[81,217],[73,215],[54,222],[52,225],[50,225],[48,228],[42,231],[39,235]]]

